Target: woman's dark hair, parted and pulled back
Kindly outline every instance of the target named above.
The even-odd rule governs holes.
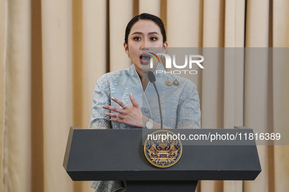
[[[129,37],[129,34],[131,32],[131,29],[133,27],[133,25],[139,21],[140,19],[146,19],[146,20],[152,20],[154,21],[158,27],[160,28],[160,32],[161,32],[161,35],[162,35],[162,38],[163,38],[163,43],[165,43],[167,41],[167,36],[166,36],[166,30],[165,30],[165,25],[163,24],[162,20],[157,17],[157,16],[154,16],[152,14],[148,14],[148,13],[142,13],[140,15],[137,15],[135,16],[133,19],[130,20],[130,22],[128,23],[127,25],[127,28],[126,28],[126,33],[125,33],[125,37],[124,37],[124,42],[126,44],[128,44],[128,37]]]

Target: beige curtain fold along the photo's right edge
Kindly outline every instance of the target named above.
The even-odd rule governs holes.
[[[289,47],[289,1],[273,1],[273,47]],[[273,53],[283,64],[273,63],[273,126],[274,132],[289,135],[285,125],[289,124],[289,55],[282,49]],[[289,48],[286,48],[287,50]],[[289,189],[289,146],[274,146],[274,190],[282,192]],[[272,158],[272,157],[271,157]]]

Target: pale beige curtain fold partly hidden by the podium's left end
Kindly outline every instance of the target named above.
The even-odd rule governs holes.
[[[71,192],[63,157],[72,125],[70,0],[42,1],[44,191]]]

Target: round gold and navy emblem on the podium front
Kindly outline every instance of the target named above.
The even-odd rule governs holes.
[[[144,153],[148,161],[156,167],[166,168],[177,163],[182,152],[178,135],[159,130],[148,135]]]

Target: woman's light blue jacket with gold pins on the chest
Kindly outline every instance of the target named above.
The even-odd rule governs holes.
[[[163,125],[169,128],[200,128],[200,100],[196,85],[189,79],[178,77],[170,73],[157,73],[162,70],[162,64],[158,64],[154,74],[156,87],[160,96]],[[166,85],[167,79],[172,82],[178,80],[179,85]],[[103,105],[111,105],[121,108],[111,97],[116,97],[127,105],[132,106],[129,94],[141,107],[142,114],[160,123],[159,106],[156,90],[149,82],[143,92],[140,78],[134,65],[130,68],[111,72],[103,75],[97,81],[93,94],[92,115],[90,119],[91,129],[135,129],[122,123],[111,122],[105,113],[110,112],[102,108]],[[115,113],[115,112],[111,112]],[[165,127],[164,127],[165,128]]]

